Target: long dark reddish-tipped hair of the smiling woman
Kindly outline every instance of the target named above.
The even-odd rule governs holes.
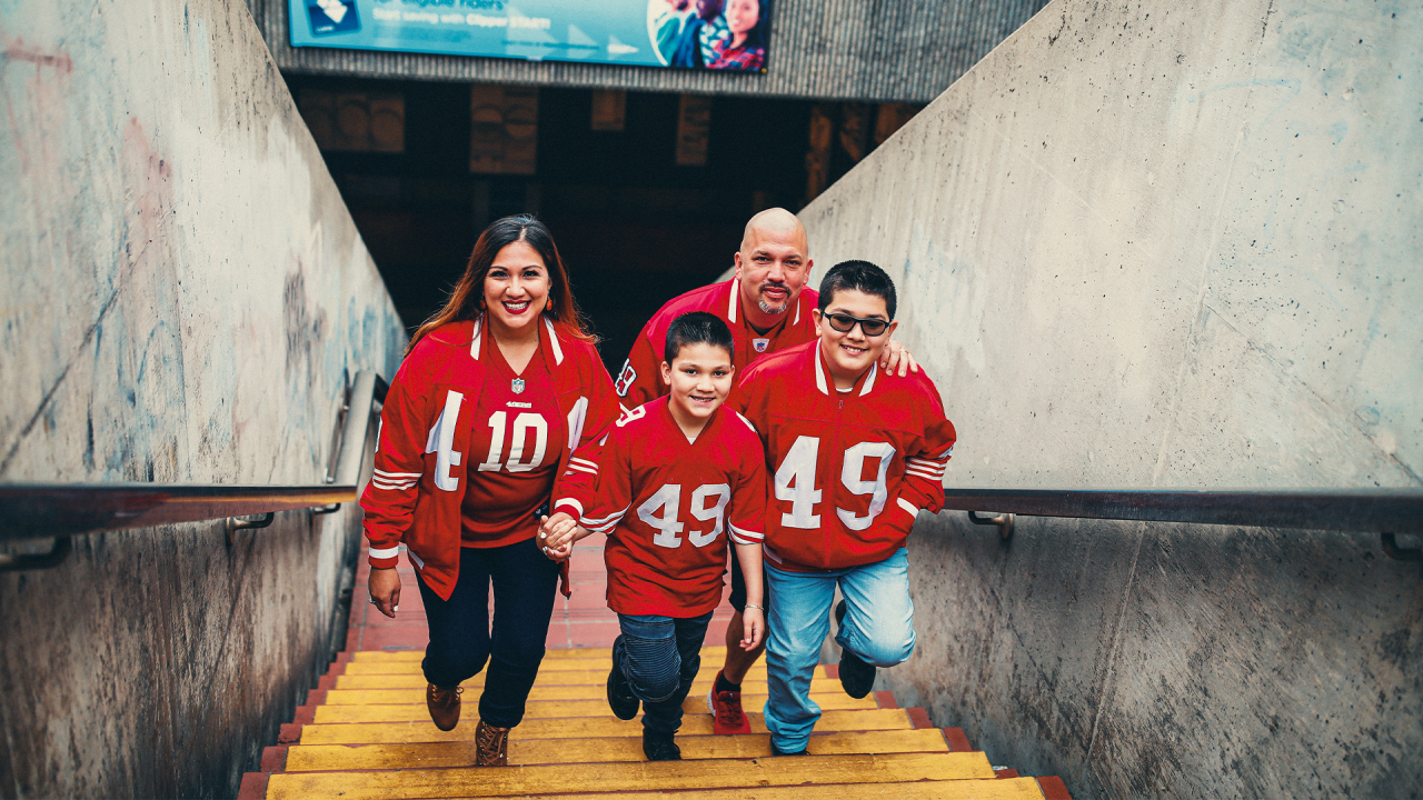
[[[573,292],[568,285],[568,270],[564,268],[564,258],[558,255],[554,235],[534,215],[519,214],[495,219],[484,229],[484,233],[480,233],[480,239],[474,242],[474,252],[470,253],[470,263],[464,268],[460,282],[454,285],[454,290],[450,292],[450,299],[445,300],[443,309],[435,312],[434,316],[416,330],[416,335],[410,337],[406,353],[414,350],[416,343],[441,325],[475,319],[484,313],[484,276],[490,273],[490,266],[494,263],[494,258],[499,255],[499,251],[514,242],[524,242],[534,248],[539,258],[544,259],[544,266],[548,268],[551,286],[548,306],[545,306],[544,313],[562,322],[578,339],[585,342],[598,340],[596,336],[589,333],[583,315],[578,310],[578,303],[573,302]]]

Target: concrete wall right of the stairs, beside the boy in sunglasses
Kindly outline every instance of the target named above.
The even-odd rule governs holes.
[[[1423,9],[1056,0],[803,214],[868,258],[962,487],[1416,487]],[[1074,797],[1419,797],[1375,535],[963,514],[882,676]]]

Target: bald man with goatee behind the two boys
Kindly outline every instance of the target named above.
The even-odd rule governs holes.
[[[736,374],[731,391],[746,367],[758,356],[794,347],[815,339],[817,329],[811,310],[820,293],[807,289],[814,262],[805,241],[805,226],[784,208],[770,208],[751,218],[741,235],[741,249],[733,256],[736,273],[730,280],[693,289],[653,315],[633,342],[632,353],[618,374],[615,389],[625,409],[667,394],[662,380],[662,352],[672,320],[687,312],[710,312],[731,329],[736,350],[731,353]],[[902,377],[918,372],[914,357],[898,342],[889,342],[881,366],[887,372],[898,367]],[[726,662],[707,695],[707,707],[716,716],[717,733],[750,733],[751,727],[741,710],[741,680],[761,656],[764,645],[741,649],[741,614],[746,611],[746,584],[731,554],[731,621],[726,628]]]

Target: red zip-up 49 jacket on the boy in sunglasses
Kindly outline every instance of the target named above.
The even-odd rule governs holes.
[[[729,403],[766,444],[766,558],[798,572],[875,564],[943,507],[953,423],[933,381],[869,367],[837,391],[820,342],[757,362]]]

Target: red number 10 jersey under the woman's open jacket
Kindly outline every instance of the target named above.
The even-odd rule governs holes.
[[[482,458],[464,484],[460,544],[504,547],[534,538],[538,510],[554,491],[564,450],[564,414],[544,353],[522,374],[491,339],[475,406],[471,453]]]

